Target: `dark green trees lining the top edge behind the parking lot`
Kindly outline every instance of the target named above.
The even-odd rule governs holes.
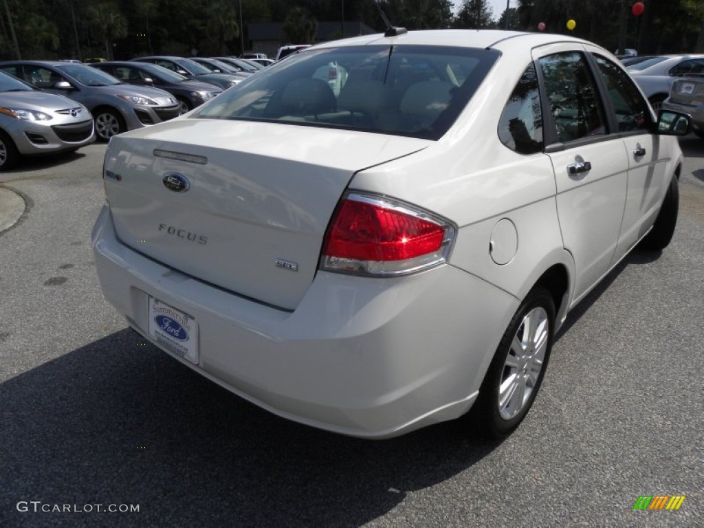
[[[286,22],[289,42],[312,42],[315,20],[361,20],[377,31],[385,29],[375,0],[4,1],[11,18],[1,10],[0,59],[16,55],[10,23],[23,58],[44,59],[189,55],[193,49],[201,54],[239,54],[241,40],[249,47],[249,23]],[[509,26],[537,31],[543,22],[546,32],[574,34],[613,51],[623,10],[627,47],[641,54],[696,47],[704,51],[704,1],[642,0],[646,10],[639,17],[631,13],[634,1],[517,0]],[[379,0],[378,4],[391,24],[408,30],[504,27],[503,19],[497,23],[496,18],[505,13],[491,13],[487,0]],[[303,18],[301,13],[308,14]],[[565,27],[570,18],[577,22],[574,32]]]

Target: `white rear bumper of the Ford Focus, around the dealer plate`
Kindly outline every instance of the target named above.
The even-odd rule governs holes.
[[[465,413],[518,306],[445,265],[396,279],[319,272],[287,312],[133,251],[107,206],[92,241],[103,293],[137,332],[151,341],[156,297],[199,325],[199,364],[182,363],[272,413],[351,436],[388,438]]]

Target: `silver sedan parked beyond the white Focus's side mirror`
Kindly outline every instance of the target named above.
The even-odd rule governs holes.
[[[704,73],[704,55],[660,55],[632,63],[627,69],[658,111],[677,77]]]

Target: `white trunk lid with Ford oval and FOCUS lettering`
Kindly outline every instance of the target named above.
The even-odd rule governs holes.
[[[293,310],[313,280],[329,218],[353,174],[429,143],[177,119],[113,137],[106,196],[128,246],[218,287]]]

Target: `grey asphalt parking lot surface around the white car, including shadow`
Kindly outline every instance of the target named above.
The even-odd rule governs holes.
[[[349,439],[232,396],[103,300],[104,145],[0,173],[26,204],[0,234],[0,527],[703,526],[704,142],[681,145],[671,246],[570,315],[501,443],[462,420]],[[634,511],[642,495],[686,499]]]

